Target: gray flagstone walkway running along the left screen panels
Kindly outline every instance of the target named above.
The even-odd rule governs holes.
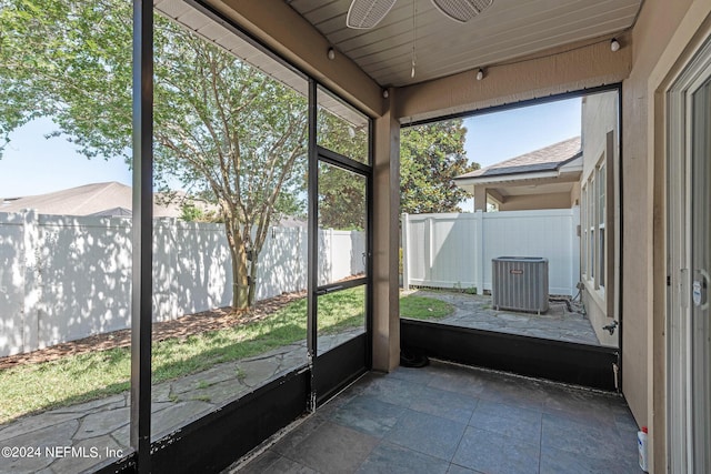
[[[320,336],[319,347],[328,351],[362,332],[361,327]],[[158,440],[306,363],[307,346],[302,341],[156,384],[151,392],[151,437]],[[129,403],[126,392],[0,426],[0,473],[77,473],[122,457],[130,452]]]

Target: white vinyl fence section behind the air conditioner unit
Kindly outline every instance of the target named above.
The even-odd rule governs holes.
[[[549,292],[573,295],[580,281],[578,208],[402,214],[403,285],[491,290],[491,260],[541,256]]]

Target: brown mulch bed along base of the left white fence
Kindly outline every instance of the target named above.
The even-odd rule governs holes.
[[[279,296],[258,301],[250,310],[234,312],[232,307],[219,307],[200,313],[188,314],[172,321],[153,323],[153,342],[167,339],[186,339],[193,334],[208,331],[229,329],[239,324],[263,320],[273,312],[282,309],[292,301],[306,297],[306,292],[283,293]],[[51,347],[26,354],[0,357],[0,370],[20,364],[37,364],[54,361],[67,355],[84,354],[87,352],[106,351],[114,347],[131,345],[131,330],[120,330],[104,334],[97,334],[77,341],[64,342]]]

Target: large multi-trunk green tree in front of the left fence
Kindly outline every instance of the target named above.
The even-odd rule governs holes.
[[[132,3],[0,0],[0,137],[38,117],[88,158],[130,163]],[[280,211],[300,206],[307,100],[154,17],[157,188],[178,178],[217,204],[233,306],[254,301],[258,255]],[[0,148],[1,151],[1,148]]]

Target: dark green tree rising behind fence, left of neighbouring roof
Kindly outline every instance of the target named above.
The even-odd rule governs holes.
[[[462,119],[404,128],[400,132],[400,211],[461,212],[467,192],[454,177],[479,169],[464,151]]]

